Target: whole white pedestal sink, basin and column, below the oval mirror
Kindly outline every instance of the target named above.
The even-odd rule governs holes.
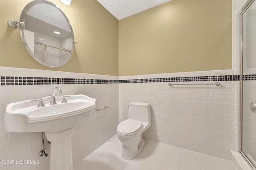
[[[74,126],[90,117],[96,108],[96,99],[86,95],[66,96],[67,103],[61,103],[64,96],[56,96],[56,105],[49,104],[51,96],[42,98],[45,107],[37,107],[39,100],[11,103],[4,115],[7,132],[45,132],[51,142],[50,170],[73,169]]]

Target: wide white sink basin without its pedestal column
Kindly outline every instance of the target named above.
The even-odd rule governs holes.
[[[67,95],[66,95],[67,96]],[[88,118],[96,108],[96,99],[86,95],[70,95],[67,103],[63,96],[56,96],[56,105],[50,105],[51,96],[42,98],[45,107],[37,107],[39,101],[11,103],[4,115],[7,132],[47,132],[74,127]]]

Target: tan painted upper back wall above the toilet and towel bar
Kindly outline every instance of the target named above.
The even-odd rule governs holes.
[[[119,75],[232,69],[232,0],[172,0],[119,21]]]

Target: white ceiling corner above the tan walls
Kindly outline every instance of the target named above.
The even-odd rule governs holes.
[[[97,0],[118,20],[137,14],[170,0]]]

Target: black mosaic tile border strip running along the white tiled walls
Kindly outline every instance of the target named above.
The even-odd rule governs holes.
[[[55,77],[10,77],[1,76],[0,85],[58,85],[58,84],[113,84],[113,83],[157,83],[192,81],[240,81],[241,75],[213,75],[194,77],[165,77],[128,80],[74,79]],[[256,80],[256,74],[243,75],[243,80]]]

